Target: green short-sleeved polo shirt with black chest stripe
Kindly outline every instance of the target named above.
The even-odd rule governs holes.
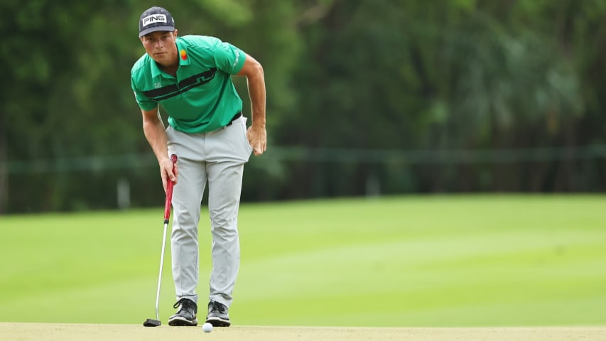
[[[134,64],[131,87],[139,107],[152,110],[162,104],[168,124],[185,133],[227,125],[242,111],[231,76],[242,69],[244,52],[209,36],[178,37],[176,43],[177,77],[160,70],[147,53]]]

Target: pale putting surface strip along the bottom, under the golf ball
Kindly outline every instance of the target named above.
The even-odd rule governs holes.
[[[200,327],[145,328],[141,325],[92,325],[52,323],[0,323],[3,340],[20,341],[603,341],[606,328],[332,328],[332,327],[247,327],[215,328],[205,333]],[[9,337],[9,338],[6,338]]]

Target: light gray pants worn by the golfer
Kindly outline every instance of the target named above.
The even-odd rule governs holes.
[[[212,232],[209,299],[229,307],[240,260],[237,224],[242,173],[252,152],[246,136],[246,118],[210,133],[185,134],[169,126],[166,134],[169,155],[178,156],[171,234],[177,301],[188,298],[198,302],[198,222],[202,194],[208,183]]]

